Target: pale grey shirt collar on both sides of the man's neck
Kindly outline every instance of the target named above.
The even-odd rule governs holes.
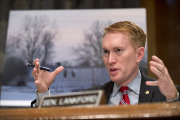
[[[130,91],[139,95],[141,85],[141,72],[138,70],[137,76],[128,84],[128,88]],[[112,96],[115,96],[119,93],[120,86],[118,84],[114,84]]]

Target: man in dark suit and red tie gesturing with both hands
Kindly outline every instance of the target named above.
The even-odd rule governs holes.
[[[129,21],[117,22],[105,28],[102,57],[111,79],[111,82],[104,85],[108,104],[179,100],[179,92],[163,61],[157,56],[152,56],[149,63],[156,80],[140,71],[139,63],[144,56],[145,41],[144,31]],[[64,68],[60,66],[53,72],[47,72],[40,70],[39,59],[34,64],[32,74],[39,99],[49,94],[49,86]]]

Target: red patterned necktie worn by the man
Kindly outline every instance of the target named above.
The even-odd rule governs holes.
[[[130,104],[129,96],[128,96],[128,87],[122,86],[119,91],[122,94],[122,98],[119,104]]]

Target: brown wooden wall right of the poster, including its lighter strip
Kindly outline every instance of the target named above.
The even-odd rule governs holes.
[[[141,5],[147,10],[148,58],[159,56],[180,85],[180,1],[141,0]]]

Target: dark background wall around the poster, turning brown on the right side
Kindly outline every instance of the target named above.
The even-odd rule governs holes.
[[[179,0],[0,0],[0,80],[10,10],[111,8],[146,8],[149,59],[154,54],[163,59],[180,85]]]

